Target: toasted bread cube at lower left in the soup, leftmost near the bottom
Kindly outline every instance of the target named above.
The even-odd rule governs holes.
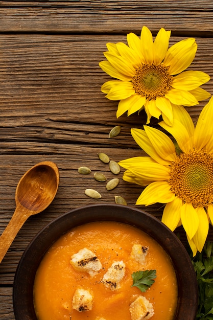
[[[92,309],[93,297],[89,290],[76,289],[73,296],[73,309],[82,312]]]

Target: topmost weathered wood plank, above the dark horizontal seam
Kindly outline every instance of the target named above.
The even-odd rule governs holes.
[[[179,5],[180,4],[180,5]],[[164,27],[176,35],[212,36],[212,3],[185,1],[1,2],[0,32],[139,33]],[[197,4],[197,5],[196,5]],[[199,12],[199,16],[198,16]],[[208,26],[206,28],[206,26]]]

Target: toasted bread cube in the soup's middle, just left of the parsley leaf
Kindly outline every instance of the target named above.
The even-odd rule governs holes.
[[[115,290],[120,286],[121,280],[125,276],[126,265],[123,261],[115,261],[105,273],[102,282],[107,288]]]

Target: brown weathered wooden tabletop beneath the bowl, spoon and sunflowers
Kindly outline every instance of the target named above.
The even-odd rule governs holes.
[[[23,250],[42,227],[82,205],[114,203],[114,195],[136,207],[141,188],[123,181],[123,170],[112,191],[93,178],[95,171],[113,177],[98,152],[114,161],[145,155],[130,134],[131,128],[146,123],[145,113],[116,119],[117,102],[101,92],[110,80],[99,67],[106,43],[126,42],[127,33],[139,35],[144,25],[154,35],[161,27],[172,30],[170,45],[195,37],[198,50],[190,69],[210,75],[203,88],[213,94],[212,15],[209,0],[0,1],[0,234],[15,210],[21,176],[42,161],[55,162],[60,172],[54,201],[28,219],[0,265],[1,320],[14,319],[14,273]],[[194,122],[206,103],[187,108]],[[115,125],[121,125],[121,133],[109,139]],[[81,166],[92,173],[79,174]],[[86,188],[99,190],[102,199],[88,198]],[[162,214],[159,203],[138,208],[159,219]],[[184,243],[182,228],[177,232]]]

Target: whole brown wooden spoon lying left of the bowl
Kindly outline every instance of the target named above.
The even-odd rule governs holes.
[[[58,167],[50,161],[38,163],[21,177],[15,192],[15,212],[0,237],[0,263],[25,221],[53,201],[58,185]]]

